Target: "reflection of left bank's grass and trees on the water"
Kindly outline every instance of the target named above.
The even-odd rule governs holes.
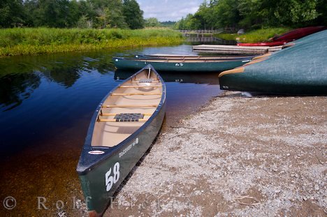
[[[10,110],[29,98],[41,84],[41,77],[72,87],[81,73],[98,71],[106,74],[114,70],[112,53],[68,53],[40,56],[8,57],[0,59],[0,107]]]

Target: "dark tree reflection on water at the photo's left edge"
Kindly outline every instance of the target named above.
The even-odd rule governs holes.
[[[29,98],[40,85],[40,77],[34,73],[6,75],[0,78],[0,104],[11,110]]]

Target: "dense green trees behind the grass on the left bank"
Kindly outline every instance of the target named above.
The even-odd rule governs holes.
[[[136,0],[1,0],[0,27],[141,29]]]

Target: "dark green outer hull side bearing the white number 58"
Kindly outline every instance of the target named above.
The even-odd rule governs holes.
[[[157,137],[165,116],[165,110],[166,101],[151,123],[140,131],[139,134],[129,138],[130,142],[126,142],[126,144],[115,151],[115,154],[112,154],[106,160],[102,160],[101,163],[96,165],[96,167],[92,167],[92,170],[89,170],[86,174],[79,176],[90,214],[95,216],[101,215],[108,204],[112,202],[112,195],[115,194],[119,185],[122,184],[122,181],[124,181]],[[118,170],[117,163],[119,164]],[[112,184],[110,190],[107,191],[106,174],[109,170],[111,170],[111,173],[108,174],[108,179],[110,179],[110,176],[114,181],[117,177],[119,178],[117,182]]]

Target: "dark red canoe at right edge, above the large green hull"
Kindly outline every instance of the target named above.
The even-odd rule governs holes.
[[[302,38],[304,36],[310,35],[312,33],[316,33],[318,31],[322,31],[327,29],[327,27],[319,26],[319,27],[305,27],[300,29],[294,29],[292,31],[286,32],[282,34],[281,36],[275,36],[273,38],[270,38],[270,40],[275,41],[292,41],[296,40],[298,38]]]

